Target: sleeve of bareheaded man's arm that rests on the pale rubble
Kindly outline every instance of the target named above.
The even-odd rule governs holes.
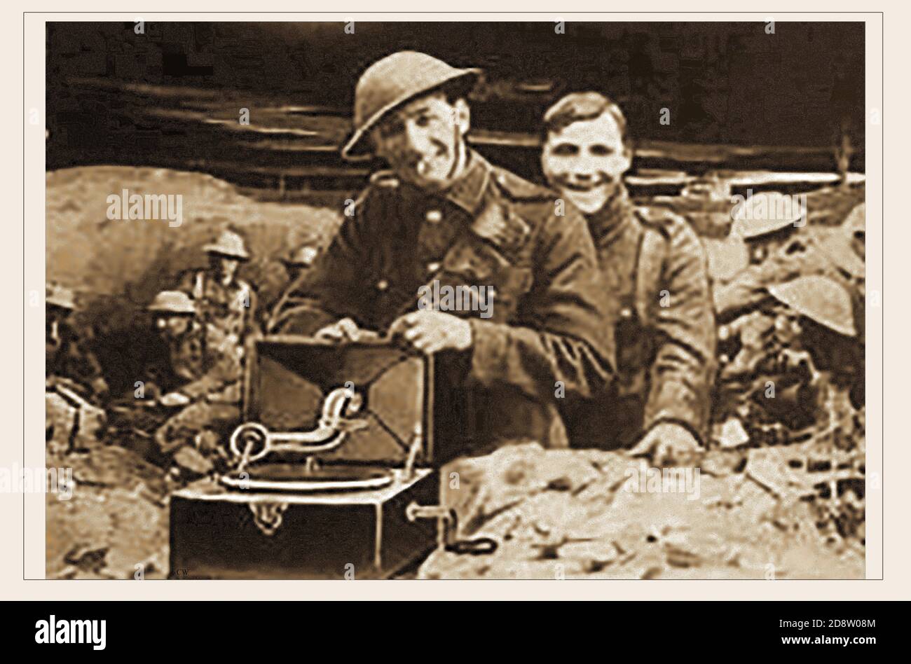
[[[716,368],[705,252],[684,220],[670,224],[664,246],[660,289],[668,292],[651,294],[657,333],[643,424],[646,431],[662,422],[682,424],[704,442]]]

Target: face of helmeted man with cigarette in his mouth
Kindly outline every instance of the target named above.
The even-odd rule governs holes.
[[[419,97],[374,129],[376,154],[395,174],[425,189],[442,189],[455,177],[469,128],[468,105],[442,93]]]

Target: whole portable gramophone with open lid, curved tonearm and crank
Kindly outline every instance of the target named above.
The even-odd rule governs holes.
[[[435,383],[389,341],[252,342],[232,469],[171,498],[171,577],[390,577],[436,546],[492,550],[436,505]]]

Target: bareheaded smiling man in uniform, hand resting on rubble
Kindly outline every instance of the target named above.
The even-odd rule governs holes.
[[[705,256],[685,220],[637,209],[622,176],[632,150],[619,107],[596,92],[568,95],[544,117],[548,182],[585,214],[601,288],[619,306],[617,379],[595,400],[569,401],[573,444],[629,446],[657,461],[704,444],[715,328]]]

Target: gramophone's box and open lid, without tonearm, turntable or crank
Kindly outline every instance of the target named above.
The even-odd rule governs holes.
[[[382,466],[393,482],[315,493],[243,491],[214,479],[189,485],[171,498],[170,577],[376,578],[423,559],[435,523],[409,521],[405,507],[438,502],[434,359],[391,342],[271,336],[251,343],[246,367],[243,419],[270,431],[309,431],[327,393],[360,393],[366,425],[320,461]],[[415,441],[420,452],[406,476]]]

